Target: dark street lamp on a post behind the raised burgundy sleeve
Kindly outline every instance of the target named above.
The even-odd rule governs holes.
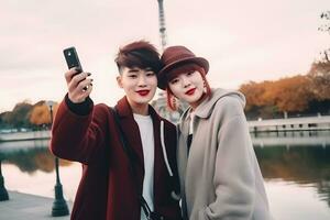
[[[51,112],[51,127],[53,125],[53,107],[54,101],[46,101],[46,106]],[[68,207],[66,201],[63,198],[63,189],[59,180],[59,172],[58,172],[58,157],[55,156],[55,170],[56,170],[56,185],[55,185],[55,200],[53,202],[52,216],[53,217],[62,217],[69,215]]]

